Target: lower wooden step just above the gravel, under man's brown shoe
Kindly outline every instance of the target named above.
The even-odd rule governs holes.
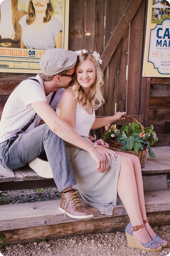
[[[129,222],[120,199],[111,216],[98,209],[90,220],[75,220],[58,210],[60,200],[18,203],[0,206],[0,236],[7,244],[33,242],[38,239],[123,230]],[[145,191],[145,205],[149,223],[153,226],[170,224],[170,190]]]

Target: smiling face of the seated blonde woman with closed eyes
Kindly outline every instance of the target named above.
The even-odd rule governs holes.
[[[85,60],[76,68],[77,81],[83,89],[90,89],[96,80],[96,67],[91,60]]]

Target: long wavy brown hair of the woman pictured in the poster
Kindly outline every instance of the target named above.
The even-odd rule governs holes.
[[[49,22],[51,20],[51,17],[53,16],[53,13],[54,13],[54,9],[53,9],[52,3],[49,0],[49,3],[47,3],[46,16],[43,18],[43,22],[44,23]],[[34,20],[35,20],[35,9],[33,6],[33,2],[29,1],[26,22],[28,25],[30,25],[33,23]]]

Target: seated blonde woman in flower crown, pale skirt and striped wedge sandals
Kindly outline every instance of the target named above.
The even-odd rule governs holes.
[[[104,101],[101,94],[103,75],[99,68],[100,55],[89,50],[80,50],[77,54],[74,83],[63,93],[56,112],[78,134],[89,140],[91,128],[97,129],[114,122],[125,112],[95,119],[94,110]],[[89,140],[89,143],[93,142]],[[161,246],[166,246],[167,242],[156,236],[147,221],[139,159],[134,155],[111,151],[106,148],[107,145],[102,147],[101,140],[93,144],[96,150],[107,157],[108,169],[104,173],[95,171],[95,163],[86,151],[73,145],[66,146],[77,181],[75,188],[89,205],[107,215],[112,214],[118,192],[130,218],[125,230],[128,246],[161,251]]]

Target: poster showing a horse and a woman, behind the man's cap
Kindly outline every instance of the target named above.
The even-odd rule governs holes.
[[[50,48],[68,50],[69,0],[0,0],[0,72],[41,73]]]

